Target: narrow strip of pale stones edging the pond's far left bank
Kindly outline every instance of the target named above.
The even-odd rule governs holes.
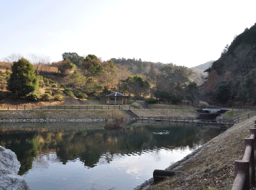
[[[40,122],[70,122],[70,123],[88,123],[104,122],[111,118],[5,118],[0,119],[0,123],[40,123]],[[124,118],[124,120],[134,120],[135,118]]]

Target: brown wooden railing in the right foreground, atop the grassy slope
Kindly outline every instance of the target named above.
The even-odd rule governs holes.
[[[235,161],[235,180],[232,190],[249,189],[255,185],[255,158],[256,158],[256,121],[254,128],[249,129],[250,137],[244,138],[245,154],[242,160]]]

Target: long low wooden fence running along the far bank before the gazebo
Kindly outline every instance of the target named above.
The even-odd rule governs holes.
[[[128,108],[128,106],[126,106]],[[85,105],[49,105],[49,106],[0,106],[0,110],[111,110],[119,109],[123,110],[123,106],[85,106]],[[182,109],[182,110],[194,110],[194,107],[182,107],[182,106],[131,106],[129,105],[129,110],[136,109]]]

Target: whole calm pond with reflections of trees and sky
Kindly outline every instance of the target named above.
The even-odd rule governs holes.
[[[1,123],[0,145],[31,189],[133,189],[221,134],[221,129],[131,123]]]

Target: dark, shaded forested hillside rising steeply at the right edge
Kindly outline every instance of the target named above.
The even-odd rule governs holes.
[[[222,104],[256,104],[256,23],[236,35],[220,58],[206,71],[204,90],[208,98]]]

